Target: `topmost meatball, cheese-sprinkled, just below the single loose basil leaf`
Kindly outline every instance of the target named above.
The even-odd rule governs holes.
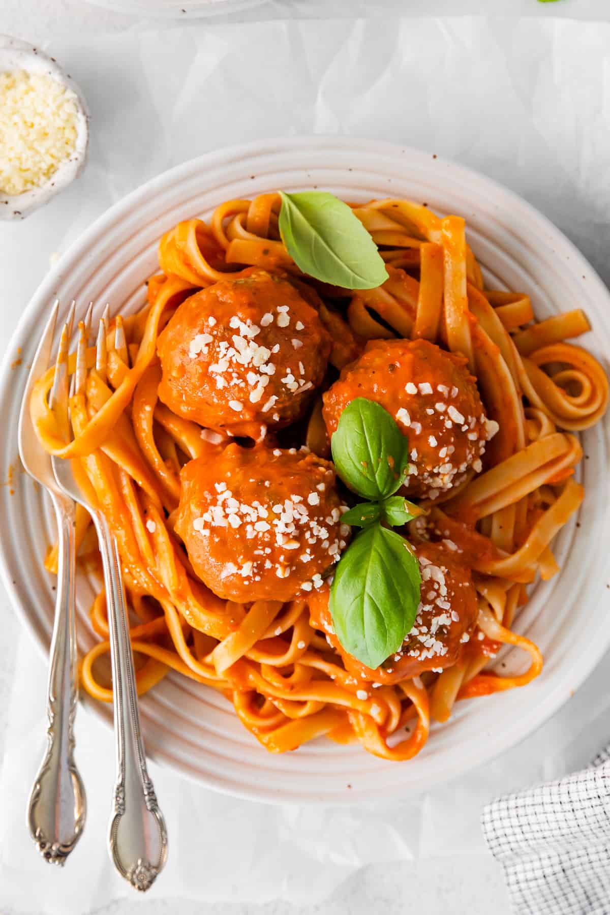
[[[189,296],[157,341],[159,397],[218,432],[261,437],[304,411],[331,340],[316,309],[282,276],[252,269]]]

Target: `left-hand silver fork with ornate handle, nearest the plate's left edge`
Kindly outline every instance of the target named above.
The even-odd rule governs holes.
[[[48,368],[59,302],[51,309],[47,327],[27,378],[19,414],[19,457],[27,473],[45,487],[53,502],[59,531],[58,582],[55,619],[49,651],[47,716],[48,746],[27,803],[30,834],[45,860],[63,865],[82,833],[87,802],[74,761],[74,716],[78,699],[76,631],[74,622],[75,506],[59,489],[51,459],[37,439],[29,414],[34,383]],[[71,328],[74,303],[66,327]],[[57,400],[56,384],[49,406]]]

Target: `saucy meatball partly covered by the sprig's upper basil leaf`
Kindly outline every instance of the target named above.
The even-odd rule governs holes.
[[[372,340],[323,395],[328,434],[350,401],[366,397],[396,419],[408,436],[411,464],[405,492],[437,499],[479,472],[488,423],[466,360],[427,340]]]

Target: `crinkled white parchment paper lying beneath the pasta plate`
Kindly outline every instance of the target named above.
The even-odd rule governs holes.
[[[416,145],[497,178],[566,231],[607,282],[609,47],[610,23],[554,18],[547,8],[540,18],[343,15],[67,34],[45,49],[88,98],[91,161],[48,208],[0,226],[2,307],[25,307],[49,256],[166,167],[242,140],[311,133]],[[89,817],[67,865],[79,879],[68,881],[37,858],[25,829],[43,748],[46,671],[27,634],[16,651],[0,771],[2,901],[21,908],[27,888],[28,910],[81,915],[132,895],[105,853],[112,735],[80,712]],[[452,780],[448,771],[437,791],[392,804],[265,807],[153,767],[171,845],[151,894],[308,904],[375,861],[483,854],[485,802],[583,766],[610,737],[607,660],[519,747],[486,767],[474,759],[467,777]]]

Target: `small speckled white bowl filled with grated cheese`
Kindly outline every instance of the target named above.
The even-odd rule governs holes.
[[[22,220],[79,175],[89,112],[53,58],[0,35],[0,220]]]

